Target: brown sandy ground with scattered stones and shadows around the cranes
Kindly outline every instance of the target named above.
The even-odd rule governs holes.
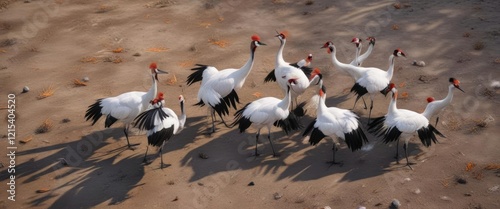
[[[10,160],[3,153],[11,150],[2,125],[0,208],[387,208],[393,199],[401,208],[500,208],[500,98],[491,86],[500,80],[496,0],[404,1],[399,9],[394,1],[328,0],[0,3],[0,118],[7,121],[8,94],[15,94],[17,147],[13,202],[7,199]],[[257,49],[239,107],[256,96],[281,98],[277,84],[263,83],[279,47],[275,30],[289,32],[285,60],[313,53],[329,106],[351,108],[354,97],[348,94],[352,79],[320,49],[326,41],[336,44],[339,60],[350,62],[352,37],[375,36],[364,66],[382,69],[392,50],[402,49],[407,59],[396,60],[393,77],[407,94],[399,99],[400,108],[422,111],[428,96],[446,96],[449,77],[459,79],[466,93],[454,92],[438,125],[447,138],[429,148],[413,140],[410,160],[417,164],[410,170],[395,163],[395,145],[370,134],[372,149],[352,153],[342,144],[337,153],[342,167],[325,163],[331,140],[310,146],[300,132],[286,136],[273,129],[278,158],[265,138],[259,145],[264,155],[250,157],[253,129],[240,134],[219,124],[215,134],[202,134],[209,118],[206,108],[192,106],[199,84],[185,85],[189,69],[195,63],[239,68],[249,57],[250,36],[258,34],[267,46]],[[426,66],[413,66],[413,60]],[[104,129],[103,120],[94,126],[84,120],[98,98],[147,91],[153,61],[170,72],[159,76],[167,105],[178,111],[179,94],[187,101],[187,127],[165,146],[170,166],[163,170],[159,159],[141,164],[144,133],[132,130],[131,142],[141,143],[132,151],[124,148],[121,124]],[[85,76],[86,86],[76,87],[73,80]],[[31,91],[21,93],[23,86]],[[38,99],[49,87],[54,94]],[[389,100],[376,97],[374,117],[386,113]],[[354,111],[366,127],[367,111],[361,105]],[[494,121],[482,122],[488,118]],[[46,119],[52,129],[35,134]],[[301,120],[306,125],[312,118]],[[485,169],[488,165],[492,169]]]

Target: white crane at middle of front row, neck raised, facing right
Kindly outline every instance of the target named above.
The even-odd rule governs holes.
[[[291,103],[291,88],[295,85],[296,79],[288,79],[289,87],[287,94],[283,99],[275,97],[263,97],[253,102],[248,103],[245,107],[236,111],[235,119],[232,126],[238,125],[240,133],[243,133],[247,128],[253,126],[257,129],[255,136],[255,156],[258,156],[257,145],[259,142],[260,130],[267,127],[269,143],[273,150],[273,156],[279,156],[274,151],[273,142],[271,141],[271,127],[281,127],[285,133],[300,128],[299,121],[295,114],[289,108]]]

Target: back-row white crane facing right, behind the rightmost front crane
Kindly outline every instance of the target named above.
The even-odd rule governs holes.
[[[400,49],[395,49],[394,52],[389,56],[389,69],[387,71],[381,70],[379,68],[370,67],[365,68],[366,72],[356,81],[352,86],[351,92],[357,94],[354,106],[358,102],[359,98],[366,93],[370,94],[370,111],[368,114],[368,122],[370,122],[372,109],[373,109],[373,98],[378,92],[386,95],[385,91],[391,82],[392,75],[394,74],[394,59],[396,57],[406,57],[405,53]]]

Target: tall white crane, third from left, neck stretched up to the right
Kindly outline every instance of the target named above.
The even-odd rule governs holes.
[[[252,70],[255,50],[262,45],[266,44],[260,42],[259,36],[253,35],[250,43],[250,58],[239,69],[228,68],[219,71],[213,66],[200,64],[197,64],[199,67],[191,69],[195,72],[188,76],[186,82],[187,85],[191,85],[201,81],[200,90],[198,91],[198,103],[195,105],[204,106],[208,104],[212,116],[211,133],[215,132],[215,112],[225,124],[222,117],[229,114],[231,106],[236,109],[236,102],[239,103],[237,91],[241,89]]]

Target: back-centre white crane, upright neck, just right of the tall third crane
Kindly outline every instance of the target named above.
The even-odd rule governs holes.
[[[283,93],[286,94],[288,89],[288,80],[291,78],[296,79],[296,85],[293,87],[292,91],[291,109],[294,109],[294,107],[297,106],[297,97],[304,93],[304,91],[309,87],[309,78],[312,73],[312,68],[285,62],[285,60],[283,59],[283,48],[285,47],[286,43],[286,35],[284,33],[279,33],[278,35],[276,35],[276,37],[278,37],[278,39],[280,40],[281,45],[278,49],[278,52],[276,53],[274,70],[266,76],[264,81],[277,81]],[[274,74],[274,77],[272,74]]]

